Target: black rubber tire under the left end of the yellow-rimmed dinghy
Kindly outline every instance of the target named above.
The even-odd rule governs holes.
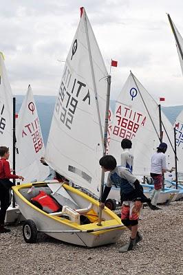
[[[36,243],[37,241],[37,228],[32,221],[32,219],[28,219],[23,223],[23,239],[26,243]]]

